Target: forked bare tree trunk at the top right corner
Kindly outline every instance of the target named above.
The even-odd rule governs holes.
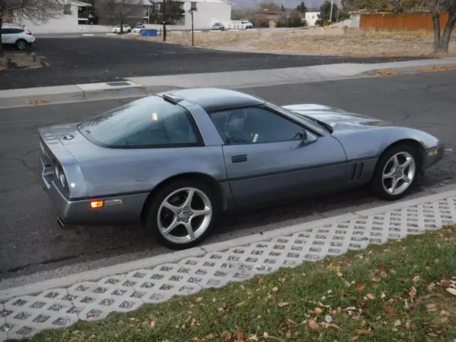
[[[447,24],[440,31],[440,13],[448,15]],[[456,0],[431,0],[430,13],[434,23],[434,51],[448,52],[450,38],[456,24]]]

